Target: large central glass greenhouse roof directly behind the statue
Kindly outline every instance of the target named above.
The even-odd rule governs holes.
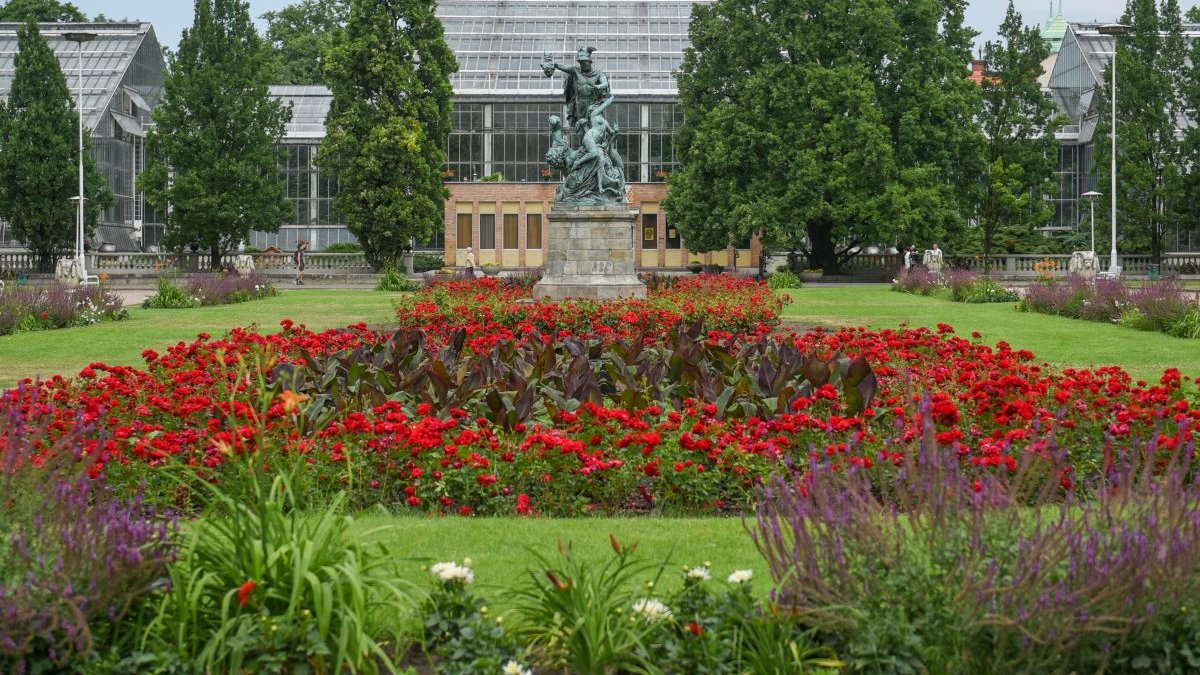
[[[580,47],[596,48],[617,95],[674,96],[691,7],[709,1],[442,0],[438,17],[458,56],[460,96],[560,96],[563,76],[542,74],[542,53],[574,64]]]

